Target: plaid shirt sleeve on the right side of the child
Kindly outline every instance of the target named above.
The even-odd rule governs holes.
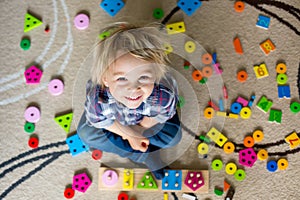
[[[164,123],[171,119],[176,113],[178,102],[178,87],[175,79],[168,77],[160,83],[156,92],[157,106],[153,107],[156,119],[159,123]]]

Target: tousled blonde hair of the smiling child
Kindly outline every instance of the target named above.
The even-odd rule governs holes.
[[[156,82],[165,76],[169,63],[165,52],[165,35],[158,27],[137,27],[128,23],[115,23],[102,30],[102,40],[94,49],[91,79],[94,84],[104,85],[103,75],[118,57],[130,53],[136,58],[157,63]]]

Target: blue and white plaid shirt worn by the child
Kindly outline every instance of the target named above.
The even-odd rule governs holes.
[[[151,95],[136,109],[117,102],[108,88],[93,85],[91,81],[87,83],[86,97],[86,119],[96,128],[109,127],[115,120],[122,125],[135,125],[144,116],[164,123],[176,113],[178,86],[175,79],[167,73],[159,84],[154,84]]]

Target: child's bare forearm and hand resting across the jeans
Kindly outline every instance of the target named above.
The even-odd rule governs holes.
[[[134,150],[139,150],[142,152],[147,151],[149,139],[143,137],[139,131],[136,131],[136,129],[133,129],[130,126],[124,126],[118,121],[114,121],[114,123],[106,129],[121,136],[124,140],[128,140],[130,146]]]

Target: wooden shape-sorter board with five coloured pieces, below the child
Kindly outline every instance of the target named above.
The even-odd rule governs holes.
[[[128,171],[129,170],[129,171]],[[108,172],[107,172],[108,171]],[[129,172],[129,173],[128,173]],[[189,172],[200,173],[203,184],[201,187],[193,190],[188,185],[184,184],[185,179],[182,177],[190,177]],[[156,180],[148,169],[135,168],[108,168],[101,166],[99,169],[99,190],[114,190],[114,191],[180,191],[188,193],[208,193],[209,187],[209,172],[208,170],[165,170],[167,173],[163,180]],[[110,175],[111,174],[111,175]],[[109,178],[109,175],[111,176]],[[132,176],[131,176],[132,175]],[[117,178],[115,178],[117,177]],[[110,184],[109,181],[112,181]],[[126,184],[128,182],[128,184]],[[132,187],[129,186],[132,183]],[[199,183],[199,181],[198,181]],[[195,189],[195,188],[194,188]]]

